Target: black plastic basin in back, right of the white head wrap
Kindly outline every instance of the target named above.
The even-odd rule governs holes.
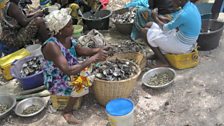
[[[83,22],[87,26],[88,30],[108,30],[109,29],[109,18],[112,15],[110,10],[100,10],[95,14],[86,12],[83,14]],[[90,17],[94,17],[90,18]]]

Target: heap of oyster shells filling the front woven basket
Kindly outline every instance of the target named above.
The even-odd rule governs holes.
[[[107,81],[120,81],[137,74],[137,67],[128,60],[111,60],[98,63],[93,70],[96,78]]]

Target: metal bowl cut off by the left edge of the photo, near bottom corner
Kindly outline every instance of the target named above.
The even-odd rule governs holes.
[[[16,98],[10,95],[0,95],[0,104],[7,105],[8,107],[5,112],[0,113],[0,119],[2,119],[9,115],[11,110],[15,107]]]

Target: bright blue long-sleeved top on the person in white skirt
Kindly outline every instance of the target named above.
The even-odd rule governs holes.
[[[201,30],[201,15],[193,3],[187,2],[175,14],[173,20],[163,26],[164,30],[172,30],[175,28],[179,29],[177,38],[181,42],[188,45],[196,43]]]

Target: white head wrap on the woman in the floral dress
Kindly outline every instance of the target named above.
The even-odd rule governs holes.
[[[45,17],[46,25],[54,35],[63,29],[71,20],[71,9],[62,8],[52,11]]]

